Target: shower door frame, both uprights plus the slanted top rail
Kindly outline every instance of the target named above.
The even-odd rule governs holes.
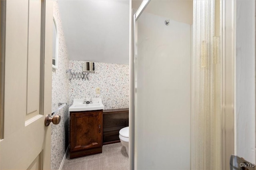
[[[137,169],[135,146],[135,50],[137,20],[150,0],[144,0],[137,12],[130,1],[130,104],[129,104],[129,167]],[[229,169],[231,154],[236,154],[236,2],[221,0],[222,8],[222,169]],[[192,123],[191,123],[192,124]],[[191,146],[190,146],[191,147]]]

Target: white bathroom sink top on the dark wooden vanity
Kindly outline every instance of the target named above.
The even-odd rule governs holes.
[[[84,103],[90,101],[90,103]],[[104,109],[101,99],[74,99],[68,111],[95,111]]]

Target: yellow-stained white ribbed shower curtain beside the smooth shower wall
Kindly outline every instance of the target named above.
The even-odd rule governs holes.
[[[194,0],[191,169],[222,169],[221,4]]]

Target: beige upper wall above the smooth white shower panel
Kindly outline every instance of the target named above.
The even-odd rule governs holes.
[[[142,0],[132,0],[132,8],[138,9],[141,2]],[[193,24],[193,0],[151,0],[145,12]]]

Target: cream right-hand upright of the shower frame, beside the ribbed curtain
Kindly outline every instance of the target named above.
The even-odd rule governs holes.
[[[222,169],[236,154],[236,1],[222,2]]]

